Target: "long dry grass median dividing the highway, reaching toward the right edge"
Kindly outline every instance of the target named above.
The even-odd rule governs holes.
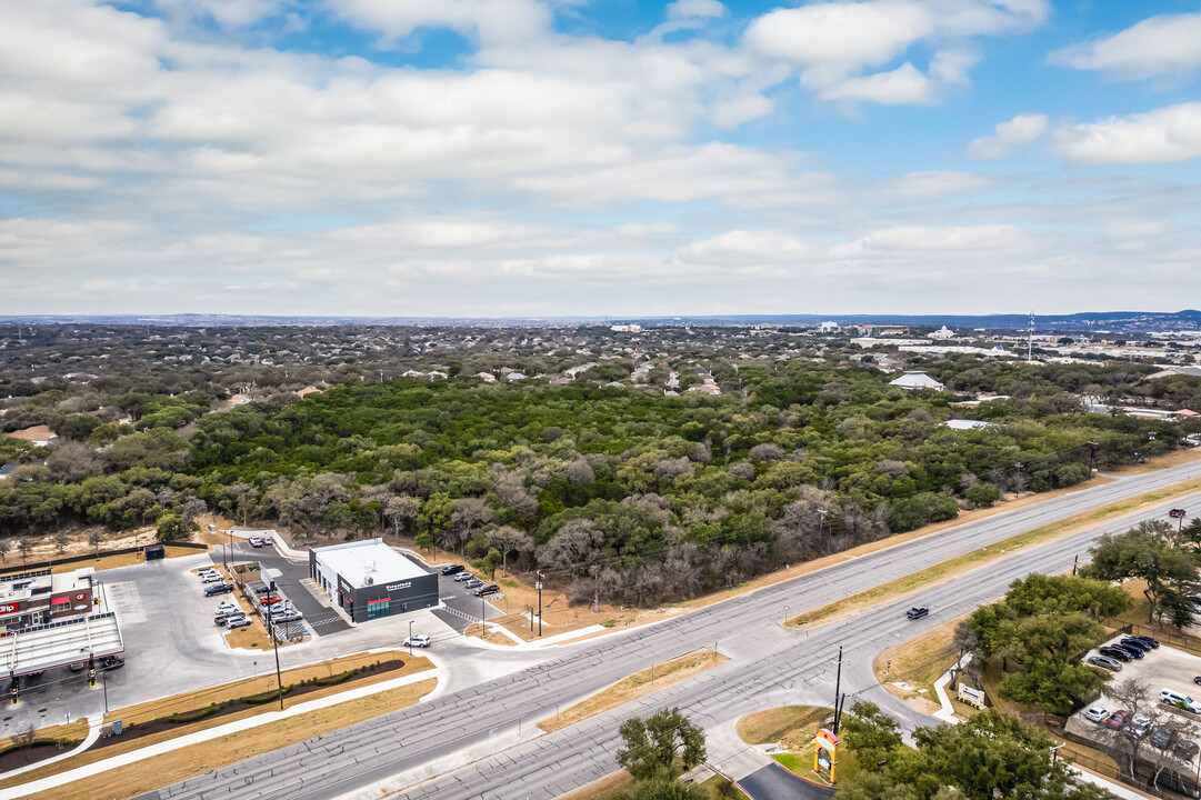
[[[1164,500],[1187,495],[1191,491],[1197,491],[1199,489],[1201,489],[1201,479],[1194,479],[1185,483],[1178,483],[1165,489],[1159,489],[1157,491],[1151,491],[1145,495],[1139,495],[1137,497],[1130,497],[1109,506],[1094,508],[1093,511],[1083,512],[1081,514],[1076,514],[1075,517],[1069,517],[1068,519],[1044,525],[1042,527],[1036,527],[1032,531],[1026,531],[1024,533],[1018,533],[1017,536],[1012,536],[1003,542],[991,544],[987,548],[973,550],[972,553],[966,553],[955,559],[942,561],[925,569],[910,573],[903,578],[897,578],[896,580],[891,580],[886,584],[880,584],[879,586],[873,586],[841,601],[827,603],[826,605],[791,617],[785,625],[788,627],[800,628],[817,625],[819,622],[829,622],[835,617],[844,616],[847,614],[862,610],[870,605],[874,605],[879,602],[907,595],[915,589],[926,586],[927,584],[932,584],[966,569],[970,569],[972,567],[976,567],[987,561],[992,561],[993,559],[998,559],[1002,555],[1012,553],[1014,550],[1018,550],[1032,544],[1041,544],[1042,542],[1059,536],[1065,536],[1068,533],[1075,533],[1087,525],[1093,525],[1113,517],[1121,517],[1122,514],[1139,511],[1145,506],[1152,506]]]

